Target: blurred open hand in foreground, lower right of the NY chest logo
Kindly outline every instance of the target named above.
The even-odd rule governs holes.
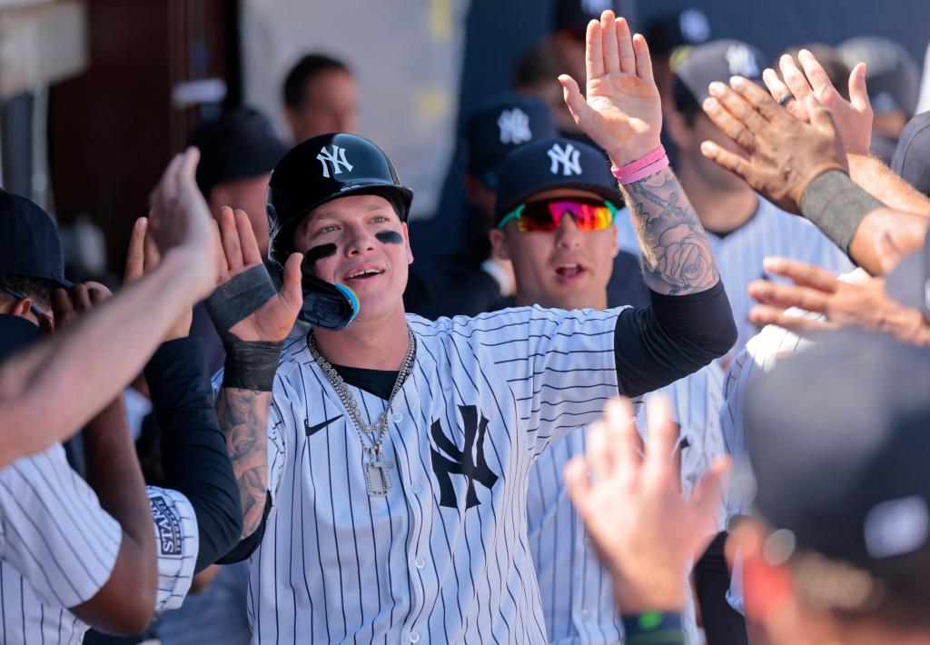
[[[627,399],[590,429],[588,453],[565,466],[572,503],[614,582],[620,611],[681,611],[685,570],[711,541],[727,459],[711,465],[689,499],[671,459],[678,438],[669,400],[650,397],[645,455]]]

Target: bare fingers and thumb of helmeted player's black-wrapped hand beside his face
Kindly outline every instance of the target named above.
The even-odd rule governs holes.
[[[219,210],[219,286],[237,275],[261,266],[259,244],[245,210],[223,207]],[[303,256],[293,253],[285,264],[284,289],[273,295],[257,311],[229,329],[240,341],[283,341],[300,312],[303,294],[300,289],[300,262]]]

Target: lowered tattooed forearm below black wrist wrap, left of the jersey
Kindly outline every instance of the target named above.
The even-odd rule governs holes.
[[[233,462],[242,501],[242,537],[259,528],[268,491],[268,406],[271,392],[223,387],[217,397],[219,427]]]

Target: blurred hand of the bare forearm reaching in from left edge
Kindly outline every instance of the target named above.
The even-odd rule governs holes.
[[[199,159],[197,149],[188,148],[168,164],[149,196],[148,235],[163,256],[174,249],[184,252],[188,279],[203,298],[216,287],[217,263],[210,211],[194,181]]]

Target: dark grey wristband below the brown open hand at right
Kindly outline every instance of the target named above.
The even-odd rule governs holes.
[[[884,204],[859,188],[842,170],[828,170],[811,181],[801,196],[801,213],[836,246],[849,247],[862,220]]]

